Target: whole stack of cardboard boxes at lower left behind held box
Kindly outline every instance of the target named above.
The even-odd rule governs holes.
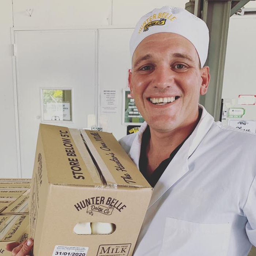
[[[10,242],[22,242],[30,236],[28,199],[31,179],[0,179],[0,255]]]

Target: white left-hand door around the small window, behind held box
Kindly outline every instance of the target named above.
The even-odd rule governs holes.
[[[25,178],[32,175],[40,122],[85,128],[88,115],[97,113],[97,31],[15,31],[14,40],[20,166]],[[71,90],[71,121],[44,121],[42,89]]]

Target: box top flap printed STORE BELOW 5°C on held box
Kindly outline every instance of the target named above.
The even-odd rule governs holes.
[[[51,184],[102,186],[96,167],[78,129],[40,124]]]

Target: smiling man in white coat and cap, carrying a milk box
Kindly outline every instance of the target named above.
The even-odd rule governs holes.
[[[181,8],[155,9],[130,47],[131,95],[146,123],[120,144],[154,187],[133,255],[248,255],[256,134],[223,127],[198,105],[210,80],[206,24]]]

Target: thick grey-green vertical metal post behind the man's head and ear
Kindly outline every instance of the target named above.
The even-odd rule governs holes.
[[[206,95],[200,97],[200,103],[219,120],[221,111],[221,95],[227,47],[227,34],[231,0],[204,0],[202,19],[206,22],[210,33],[207,66],[210,67],[211,80]]]

